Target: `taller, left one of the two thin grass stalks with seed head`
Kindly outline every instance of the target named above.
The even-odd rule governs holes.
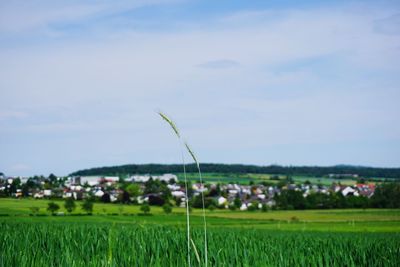
[[[185,164],[185,157],[183,155],[183,150],[182,150],[182,139],[181,135],[179,134],[178,127],[176,127],[175,123],[164,113],[162,112],[157,112],[158,115],[161,116],[163,120],[165,120],[169,126],[171,126],[172,130],[175,132],[175,135],[178,137],[179,141],[179,147],[181,150],[181,157],[182,157],[182,164],[183,164],[183,176],[185,179],[185,191],[186,191],[186,230],[187,230],[187,260],[188,260],[188,266],[191,266],[190,264],[190,216],[189,216],[189,195],[188,195],[188,182],[187,182],[187,177],[186,177],[186,164]]]

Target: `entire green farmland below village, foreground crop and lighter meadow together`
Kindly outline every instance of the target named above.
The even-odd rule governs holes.
[[[51,216],[47,203],[0,199],[0,266],[187,266],[184,209],[144,216],[139,206],[95,203],[93,215]],[[400,265],[400,210],[206,214],[209,266]],[[204,266],[201,211],[190,219],[191,263]]]

